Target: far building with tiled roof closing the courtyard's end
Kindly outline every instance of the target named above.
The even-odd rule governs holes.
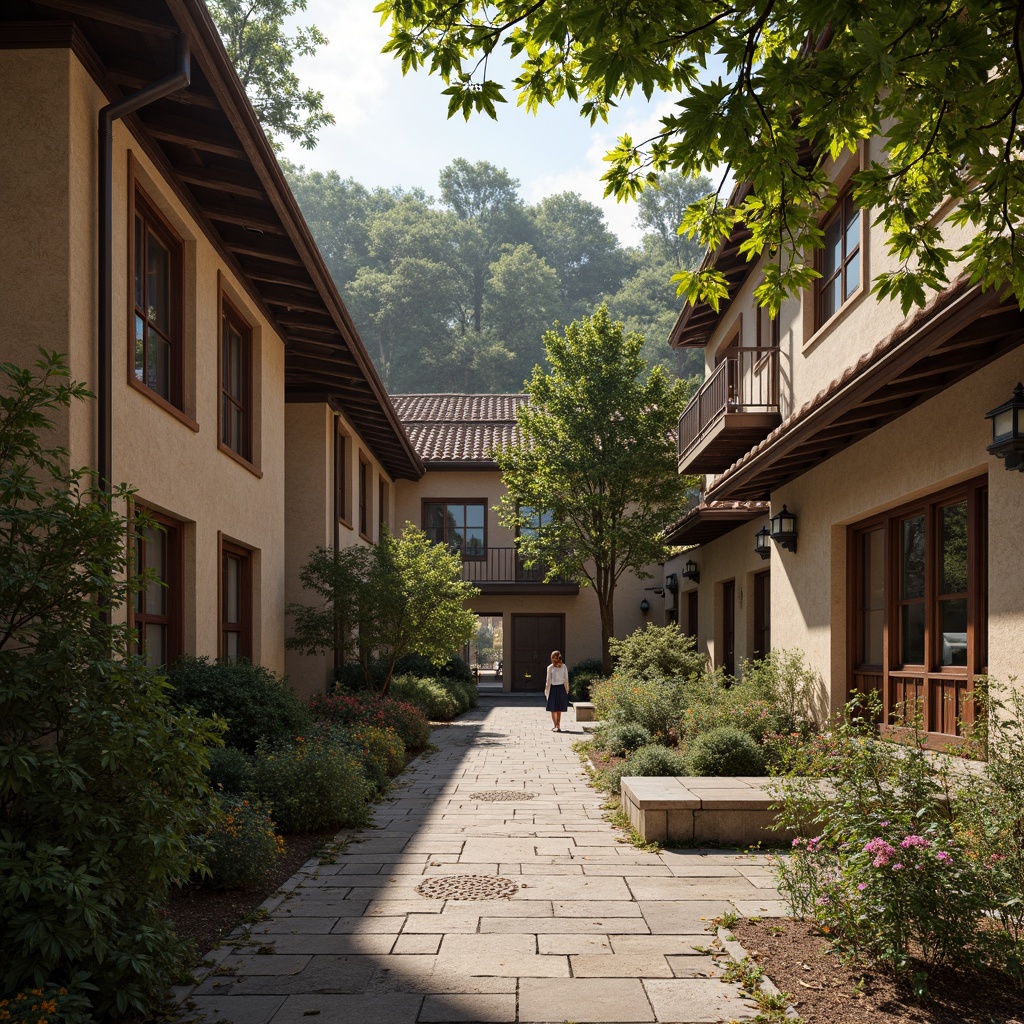
[[[542,690],[552,650],[561,650],[570,667],[600,658],[601,623],[593,590],[545,582],[542,568],[521,563],[514,531],[498,521],[496,506],[505,487],[493,453],[515,440],[515,414],[526,395],[404,394],[391,399],[426,470],[419,481],[398,481],[395,521],[415,523],[462,555],[465,579],[480,590],[473,610],[481,626],[503,640],[500,655],[485,660],[484,672],[496,671],[493,666],[500,662],[504,690]],[[660,566],[650,571],[650,580],[627,572],[620,583],[620,636],[649,618],[652,585],[662,583]],[[641,606],[644,601],[646,607]]]

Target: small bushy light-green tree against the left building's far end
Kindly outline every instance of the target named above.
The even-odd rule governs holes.
[[[368,685],[376,662],[384,670],[382,693],[402,655],[443,665],[476,633],[476,612],[465,603],[479,591],[462,579],[461,559],[412,523],[400,537],[384,529],[373,548],[317,548],[300,579],[321,601],[289,605],[295,623],[288,646],[305,654],[335,651],[339,659],[354,654]]]

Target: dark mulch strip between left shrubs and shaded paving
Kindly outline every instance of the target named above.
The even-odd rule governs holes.
[[[272,896],[317,850],[337,835],[336,828],[285,837],[285,856],[259,885],[215,892],[186,886],[171,893],[167,914],[180,938],[191,939],[201,954],[208,953],[244,919]]]

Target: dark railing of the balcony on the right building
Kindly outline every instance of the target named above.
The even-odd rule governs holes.
[[[679,461],[731,414],[778,413],[778,348],[730,348],[679,417]]]

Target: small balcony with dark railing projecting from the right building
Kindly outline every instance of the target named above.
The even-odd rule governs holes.
[[[730,348],[679,417],[679,472],[721,473],[780,422],[778,348]]]

